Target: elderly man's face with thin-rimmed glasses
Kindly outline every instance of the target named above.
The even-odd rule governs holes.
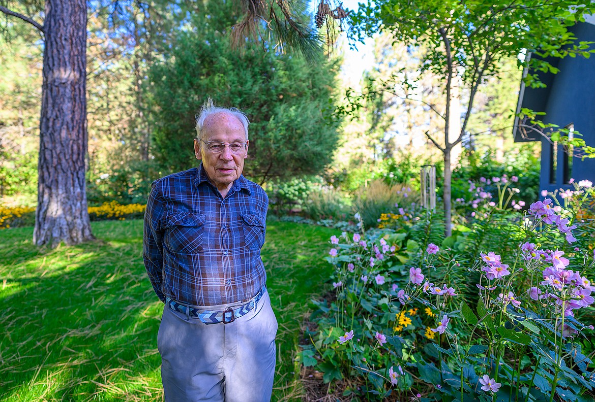
[[[202,140],[205,143],[248,143],[242,122],[236,116],[224,112],[209,116],[205,120]],[[248,157],[248,147],[238,154],[232,153],[228,146],[224,147],[223,151],[214,153],[205,143],[194,140],[196,159],[202,160],[206,175],[225,196],[231,184],[242,174],[244,159]]]

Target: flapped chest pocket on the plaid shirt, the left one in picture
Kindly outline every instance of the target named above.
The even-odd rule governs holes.
[[[202,251],[205,214],[171,214],[167,217],[165,240],[173,252]]]

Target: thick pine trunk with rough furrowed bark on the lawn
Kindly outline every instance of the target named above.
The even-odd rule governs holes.
[[[85,0],[46,0],[39,184],[33,242],[93,239],[85,186],[87,152]]]

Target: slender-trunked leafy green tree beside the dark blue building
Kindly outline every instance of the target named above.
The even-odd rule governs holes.
[[[587,53],[587,43],[574,43],[568,27],[583,20],[593,7],[580,0],[382,0],[369,2],[353,15],[353,37],[362,39],[383,31],[408,45],[425,46],[430,51],[424,68],[443,77],[445,106],[436,112],[444,121],[444,130],[428,132],[427,136],[444,157],[447,236],[451,233],[451,153],[464,137],[481,83],[499,72],[500,59],[519,56],[522,50],[543,57]],[[519,64],[553,69],[544,59],[519,59]],[[459,83],[469,98],[460,129],[455,132],[451,102]],[[527,83],[538,84],[537,75],[529,74]]]

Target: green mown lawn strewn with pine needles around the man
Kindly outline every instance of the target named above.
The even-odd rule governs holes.
[[[143,267],[142,221],[93,223],[96,242],[32,245],[0,231],[0,400],[162,400],[163,305]],[[300,324],[331,267],[336,230],[269,223],[262,259],[279,322],[273,400],[300,400]]]

